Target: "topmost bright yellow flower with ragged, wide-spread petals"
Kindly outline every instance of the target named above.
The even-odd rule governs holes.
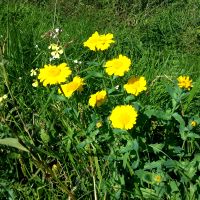
[[[104,51],[109,48],[111,43],[114,43],[113,34],[103,34],[99,35],[96,31],[92,36],[84,42],[84,47],[88,47],[92,51]]]

